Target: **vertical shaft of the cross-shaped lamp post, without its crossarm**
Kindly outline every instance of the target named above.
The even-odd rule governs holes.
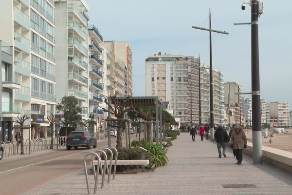
[[[211,31],[211,9],[209,9],[209,41],[210,41],[210,138],[214,139],[214,103],[213,103],[213,64],[212,64],[212,31]]]

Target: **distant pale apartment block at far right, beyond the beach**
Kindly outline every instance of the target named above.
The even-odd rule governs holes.
[[[271,127],[288,127],[290,121],[289,103],[270,103],[270,125]]]

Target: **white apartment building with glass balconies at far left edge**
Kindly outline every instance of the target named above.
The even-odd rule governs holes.
[[[27,114],[32,130],[24,139],[47,136],[46,116],[55,110],[55,43],[53,0],[1,2],[1,129],[0,139],[13,140],[13,119]],[[2,134],[2,135],[1,135]]]

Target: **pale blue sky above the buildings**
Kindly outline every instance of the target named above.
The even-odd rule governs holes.
[[[241,10],[241,0],[86,0],[89,24],[104,40],[127,41],[132,47],[133,96],[145,96],[145,59],[163,54],[198,57],[209,66],[209,28],[229,35],[212,34],[213,68],[224,82],[237,82],[251,91],[251,7]],[[289,102],[292,110],[292,0],[264,0],[259,18],[261,98]],[[248,96],[246,96],[249,98]]]

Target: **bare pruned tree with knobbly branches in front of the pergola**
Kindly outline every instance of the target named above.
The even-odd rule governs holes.
[[[133,106],[130,105],[129,98],[131,96],[127,96],[125,99],[117,99],[117,94],[110,97],[110,102],[108,99],[105,99],[105,103],[109,106],[109,109],[103,108],[104,112],[109,112],[114,115],[117,119],[124,119],[125,114],[129,111],[133,111]],[[117,132],[117,146],[116,148],[122,148],[122,134],[123,134],[123,124],[125,121],[118,120],[118,132]]]

